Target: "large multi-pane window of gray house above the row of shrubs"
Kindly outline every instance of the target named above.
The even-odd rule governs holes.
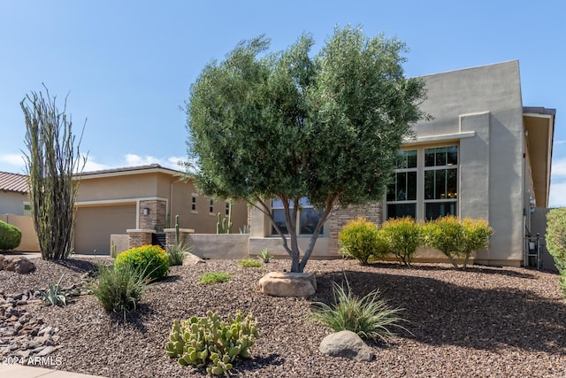
[[[458,147],[399,152],[394,180],[387,188],[386,216],[434,220],[457,215]]]

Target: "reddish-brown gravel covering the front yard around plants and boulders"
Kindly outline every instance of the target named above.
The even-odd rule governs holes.
[[[0,289],[17,294],[42,289],[65,273],[64,284],[79,283],[92,262],[73,258],[64,264],[34,259],[34,274],[0,271]],[[233,260],[173,266],[162,282],[149,285],[142,304],[121,321],[91,295],[64,308],[27,305],[27,311],[59,328],[60,364],[51,368],[106,377],[187,377],[203,371],[180,366],[164,352],[174,319],[252,312],[260,337],[252,358],[238,362],[233,374],[246,377],[566,377],[566,304],[556,274],[524,268],[471,266],[455,271],[444,264],[394,263],[359,266],[355,260],[311,260],[317,295],[268,297],[257,282],[282,271],[288,260],[243,268]],[[200,286],[203,273],[231,272],[229,282]],[[379,288],[390,305],[402,307],[404,326],[389,344],[369,343],[371,362],[325,357],[320,341],[331,330],[305,320],[311,301],[332,300],[332,282],[347,275],[352,290],[365,295]],[[57,359],[58,358],[58,359]]]

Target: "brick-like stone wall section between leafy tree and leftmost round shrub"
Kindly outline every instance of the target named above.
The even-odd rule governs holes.
[[[338,252],[340,249],[340,244],[338,243],[340,230],[348,220],[355,220],[358,217],[371,220],[373,223],[381,226],[383,220],[381,203],[352,205],[334,212],[333,216],[328,220],[329,252]]]

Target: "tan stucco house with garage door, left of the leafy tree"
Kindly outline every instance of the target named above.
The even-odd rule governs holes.
[[[157,164],[86,172],[80,175],[74,232],[76,253],[109,254],[111,235],[128,230],[180,228],[216,234],[218,212],[228,216],[228,203],[203,197],[181,172]],[[248,225],[247,204],[232,206],[233,232]]]

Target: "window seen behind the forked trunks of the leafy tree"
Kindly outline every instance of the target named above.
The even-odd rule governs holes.
[[[290,215],[293,217],[293,202],[289,203]],[[285,220],[285,208],[283,207],[283,202],[280,199],[272,200],[272,214],[275,224],[279,227],[283,234],[288,234],[287,221]],[[309,203],[308,198],[301,198],[299,202],[299,219],[298,228],[300,235],[312,235],[317,228],[318,220],[322,211],[315,209]],[[324,234],[324,227],[320,229],[320,234]],[[274,227],[272,227],[272,235],[279,235]]]

